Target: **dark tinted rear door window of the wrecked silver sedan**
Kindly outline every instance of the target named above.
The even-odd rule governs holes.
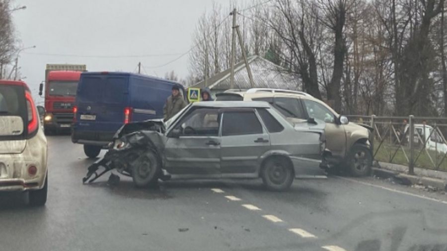
[[[262,125],[254,111],[224,113],[222,136],[261,133]]]

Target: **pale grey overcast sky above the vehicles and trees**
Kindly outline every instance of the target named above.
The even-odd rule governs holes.
[[[224,7],[229,0],[215,0]],[[249,3],[251,0],[238,0]],[[46,63],[81,63],[89,71],[135,71],[164,76],[174,70],[188,73],[188,56],[163,67],[192,46],[192,34],[200,15],[211,10],[212,0],[15,0],[26,5],[13,12],[21,47],[36,46],[20,53],[22,77],[33,89],[45,78]],[[230,20],[230,19],[228,19]],[[137,58],[48,56],[160,55]]]

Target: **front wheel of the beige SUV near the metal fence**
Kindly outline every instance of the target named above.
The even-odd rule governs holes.
[[[346,166],[352,176],[370,175],[373,167],[373,154],[370,148],[363,144],[354,144],[349,151]]]

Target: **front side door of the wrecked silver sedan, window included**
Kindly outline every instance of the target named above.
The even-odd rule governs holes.
[[[219,116],[218,109],[198,107],[170,129],[164,149],[169,173],[220,176]]]

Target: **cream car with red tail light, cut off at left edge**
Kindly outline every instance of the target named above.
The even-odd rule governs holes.
[[[29,204],[47,201],[47,139],[28,86],[0,80],[0,192],[29,191]]]

